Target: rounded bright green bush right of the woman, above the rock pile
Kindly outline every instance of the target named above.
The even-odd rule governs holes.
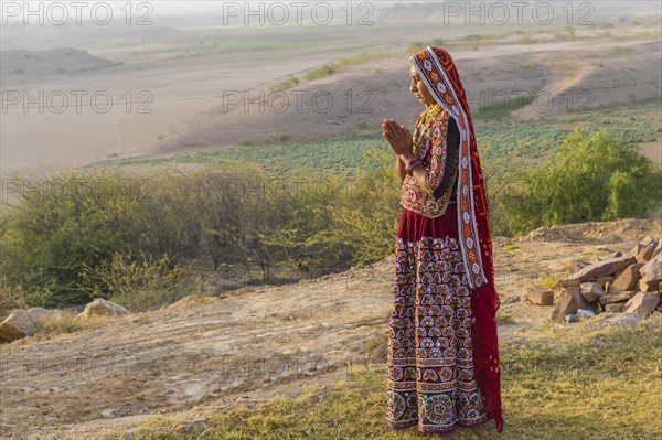
[[[637,147],[578,127],[542,167],[513,175],[503,205],[510,228],[645,217],[662,203],[662,172]]]

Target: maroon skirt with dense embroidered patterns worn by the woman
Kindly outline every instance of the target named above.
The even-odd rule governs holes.
[[[457,207],[428,218],[403,208],[388,325],[387,426],[445,433],[492,418],[473,375],[471,290]]]

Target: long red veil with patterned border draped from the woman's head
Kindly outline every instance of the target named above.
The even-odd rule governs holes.
[[[496,310],[501,305],[494,288],[492,236],[488,200],[473,124],[465,87],[450,54],[428,46],[409,57],[439,105],[455,118],[460,129],[458,173],[458,238],[471,285],[471,325],[476,382],[485,398],[485,410],[494,417],[496,431],[503,431],[501,414],[501,368]]]

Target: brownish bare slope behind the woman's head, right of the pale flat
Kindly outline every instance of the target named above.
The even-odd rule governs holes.
[[[605,58],[607,44],[552,45],[554,49],[549,52],[546,45],[534,44],[533,47],[501,46],[498,53],[456,53],[470,107],[499,106],[504,96],[514,100],[517,96],[534,95],[534,104],[515,110],[513,116],[542,119],[549,115],[576,114],[586,110],[586,105],[598,108],[629,103],[632,96],[638,99],[662,96],[659,79],[662,67],[655,58],[655,53],[660,53],[659,43],[626,42],[632,60]],[[541,53],[543,49],[545,52]],[[563,68],[555,64],[557,60],[573,60],[579,54],[583,62]],[[523,67],[526,63],[535,63],[535,66]],[[216,108],[200,118],[194,128],[153,143],[136,155],[167,157],[217,150],[236,147],[242,141],[268,144],[274,140],[263,139],[274,139],[278,132],[287,133],[288,142],[334,139],[377,131],[384,118],[395,118],[413,127],[423,107],[409,92],[407,68],[405,60],[381,60],[297,86],[275,97],[273,105],[267,101],[260,107],[241,99],[227,108],[231,111]],[[329,111],[323,111],[327,109],[323,100],[316,105],[313,99],[323,94],[331,97]]]

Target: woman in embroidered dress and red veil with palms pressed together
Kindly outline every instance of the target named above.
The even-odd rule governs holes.
[[[388,427],[445,433],[494,419],[503,430],[492,243],[462,83],[450,55],[409,58],[427,106],[412,136],[382,125],[402,182],[388,325]]]

